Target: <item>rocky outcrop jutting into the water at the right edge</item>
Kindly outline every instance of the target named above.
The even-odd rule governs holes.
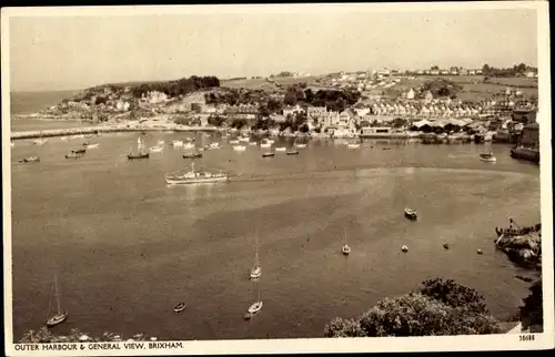
[[[514,236],[502,234],[495,239],[495,244],[516,264],[531,268],[542,267],[541,232]]]

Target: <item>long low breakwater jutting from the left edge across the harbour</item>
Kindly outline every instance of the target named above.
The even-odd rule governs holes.
[[[101,133],[118,133],[118,132],[216,132],[220,131],[215,126],[186,126],[186,125],[94,125],[84,128],[65,128],[65,129],[48,129],[19,131],[10,134],[11,140],[26,140],[37,137],[56,137],[56,136],[72,136],[72,135],[94,135]]]

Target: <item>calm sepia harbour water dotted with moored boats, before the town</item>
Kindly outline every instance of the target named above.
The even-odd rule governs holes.
[[[539,222],[539,167],[511,159],[511,146],[494,144],[492,164],[474,144],[365,141],[347,150],[312,141],[297,156],[263,159],[265,149],[234,152],[224,140],[195,165],[228,170],[232,182],[169,187],[164,174],[190,163],[169,143],[191,135],[148,133],[149,146],[165,140],[164,152],[138,161],[125,157],[133,133],[11,147],[16,339],[43,325],[54,274],[69,312],[56,330],[159,339],[322,337],[333,317],[354,317],[437,276],[477,289],[500,318],[528,294],[515,275],[533,273],[493,244],[508,217]],[[83,141],[99,147],[63,157]],[[41,162],[18,163],[28,155]],[[405,206],[417,222],[404,218]],[[244,322],[256,297],[249,280],[256,230],[264,307]],[[175,314],[179,302],[188,307]]]

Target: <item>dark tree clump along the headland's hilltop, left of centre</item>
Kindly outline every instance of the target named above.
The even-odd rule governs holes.
[[[143,83],[131,89],[133,96],[141,98],[144,93],[158,91],[169,96],[185,95],[191,92],[220,86],[220,80],[216,76],[190,76],[176,81]]]

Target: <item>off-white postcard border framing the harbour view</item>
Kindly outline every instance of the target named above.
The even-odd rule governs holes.
[[[446,350],[525,350],[554,347],[554,277],[553,241],[542,239],[543,252],[543,296],[544,333],[533,334],[533,341],[522,341],[515,335],[486,336],[437,336],[437,337],[395,337],[395,338],[300,338],[265,340],[183,340],[182,348],[123,349],[124,343],[110,343],[120,346],[120,350],[91,349],[92,344],[75,345],[77,350],[29,350],[16,349],[12,344],[12,282],[11,282],[11,149],[10,149],[10,52],[9,18],[43,16],[150,16],[153,13],[222,13],[240,12],[344,12],[344,11],[431,11],[460,9],[535,9],[537,11],[538,41],[538,94],[541,121],[541,192],[542,192],[542,231],[544,237],[553,237],[552,201],[552,153],[551,153],[551,70],[549,70],[549,14],[548,3],[538,1],[483,1],[450,3],[372,3],[372,4],[273,4],[273,6],[194,6],[194,7],[74,7],[74,8],[2,8],[1,47],[2,59],[2,171],[3,171],[3,252],[4,252],[4,340],[6,353],[10,356],[137,356],[137,355],[234,355],[234,354],[290,354],[290,353],[339,353],[339,351],[446,351]],[[400,10],[402,9],[402,10]],[[323,328],[323,327],[322,327]],[[164,341],[169,343],[169,341]],[[103,343],[107,344],[107,343]],[[144,341],[145,345],[150,341]],[[160,344],[160,343],[159,343]],[[17,344],[17,346],[23,346]]]

